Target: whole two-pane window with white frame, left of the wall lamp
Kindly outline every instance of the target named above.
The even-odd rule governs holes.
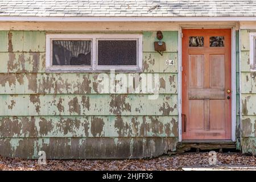
[[[47,34],[47,72],[142,69],[141,34]]]

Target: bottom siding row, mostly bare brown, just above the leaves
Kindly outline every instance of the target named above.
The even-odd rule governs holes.
[[[38,158],[40,150],[49,159],[153,158],[175,151],[176,143],[174,137],[1,138],[0,153],[18,158]]]

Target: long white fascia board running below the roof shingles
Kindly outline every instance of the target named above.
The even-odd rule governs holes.
[[[256,21],[256,16],[0,16],[0,22],[227,22]]]

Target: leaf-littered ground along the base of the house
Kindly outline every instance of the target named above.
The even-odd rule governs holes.
[[[208,160],[205,152],[137,160],[47,160],[46,165],[39,165],[37,160],[0,156],[0,170],[182,170],[189,166],[210,167]],[[256,167],[256,156],[218,153],[217,165]]]

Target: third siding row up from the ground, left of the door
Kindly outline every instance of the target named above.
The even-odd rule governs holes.
[[[0,115],[177,115],[176,101],[176,94],[4,94]]]

